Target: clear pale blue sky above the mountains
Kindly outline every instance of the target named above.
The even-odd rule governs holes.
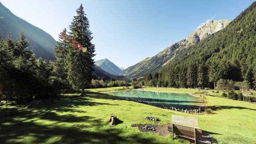
[[[190,35],[208,20],[233,20],[253,0],[0,0],[58,40],[83,4],[95,60],[127,68]]]

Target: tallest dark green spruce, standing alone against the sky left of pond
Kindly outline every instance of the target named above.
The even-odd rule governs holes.
[[[89,30],[89,20],[84,13],[84,8],[82,4],[76,10],[77,16],[74,16],[71,25],[69,26],[71,32],[70,35],[73,40],[81,44],[84,48],[87,48],[86,52],[82,52],[81,50],[77,50],[75,56],[77,58],[73,58],[73,63],[78,66],[78,68],[70,68],[70,70],[75,70],[76,72],[72,72],[76,74],[81,82],[82,94],[84,94],[85,86],[89,86],[92,80],[92,72],[94,66],[94,60],[92,59],[95,54],[94,44],[92,44],[92,32]]]

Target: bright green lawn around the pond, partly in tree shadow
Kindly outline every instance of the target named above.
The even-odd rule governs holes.
[[[119,88],[106,88],[110,91]],[[185,140],[154,133],[142,133],[132,124],[156,124],[146,116],[160,118],[157,124],[171,122],[172,114],[197,117],[199,127],[209,132],[219,144],[256,143],[256,104],[206,96],[212,115],[192,115],[154,106],[121,100],[102,94],[99,89],[87,90],[88,96],[66,96],[47,100],[26,108],[26,105],[0,107],[0,143],[88,143],[88,144],[183,144]],[[166,88],[158,88],[166,90]],[[187,91],[186,91],[187,92]],[[6,116],[17,108],[16,116]],[[111,114],[120,124],[109,126]]]

